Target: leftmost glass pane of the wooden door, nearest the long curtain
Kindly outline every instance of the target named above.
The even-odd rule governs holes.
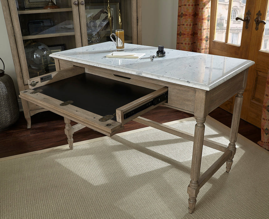
[[[229,0],[218,0],[214,40],[225,42]]]

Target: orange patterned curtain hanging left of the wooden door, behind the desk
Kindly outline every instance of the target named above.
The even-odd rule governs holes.
[[[179,0],[177,49],[208,53],[211,0]]]

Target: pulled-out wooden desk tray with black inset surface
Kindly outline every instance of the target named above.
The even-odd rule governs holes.
[[[123,125],[167,102],[158,90],[82,73],[22,91],[21,98],[111,136]]]

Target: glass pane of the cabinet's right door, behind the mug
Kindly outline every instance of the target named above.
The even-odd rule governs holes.
[[[89,45],[111,41],[110,34],[116,29],[124,29],[125,43],[132,43],[132,0],[110,0],[109,6],[111,19],[107,0],[85,0]]]

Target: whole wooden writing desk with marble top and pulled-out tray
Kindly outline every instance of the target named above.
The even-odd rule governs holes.
[[[242,94],[248,68],[254,62],[172,49],[165,49],[164,58],[153,61],[147,58],[157,50],[125,43],[125,52],[146,55],[142,59],[106,58],[115,51],[115,44],[106,42],[53,53],[50,56],[55,59],[57,71],[30,79],[30,89],[20,92],[20,97],[64,117],[70,149],[74,132],[85,126],[111,136],[130,120],[192,140],[187,192],[189,212],[193,213],[196,197],[205,182],[225,162],[226,171],[231,169]],[[112,96],[106,95],[110,93]],[[206,116],[235,94],[229,145],[204,139]],[[140,117],[160,104],[194,114],[197,122],[194,135]],[[71,120],[78,124],[71,126]],[[223,154],[200,176],[203,145]]]

